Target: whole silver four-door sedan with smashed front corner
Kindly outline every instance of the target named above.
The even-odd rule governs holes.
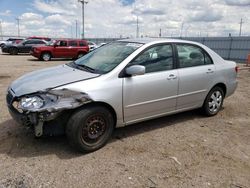
[[[179,58],[182,47],[189,57]],[[126,39],[22,76],[6,99],[12,117],[37,137],[65,132],[73,147],[91,152],[115,127],[196,108],[216,115],[236,90],[237,71],[196,42]]]

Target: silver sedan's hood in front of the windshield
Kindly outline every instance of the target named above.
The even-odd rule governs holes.
[[[19,97],[97,76],[99,74],[74,69],[68,65],[59,65],[28,73],[15,80],[10,88],[15,96]]]

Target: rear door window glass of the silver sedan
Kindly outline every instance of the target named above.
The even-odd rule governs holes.
[[[211,58],[200,47],[190,44],[177,44],[180,68],[213,64]]]

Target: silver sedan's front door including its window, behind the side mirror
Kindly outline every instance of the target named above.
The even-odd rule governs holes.
[[[164,115],[176,109],[178,75],[172,45],[153,46],[130,65],[143,65],[144,75],[123,78],[123,108],[126,124]]]

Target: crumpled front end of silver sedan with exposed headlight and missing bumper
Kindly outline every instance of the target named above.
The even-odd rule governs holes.
[[[25,126],[33,126],[35,136],[43,135],[45,122],[56,119],[63,111],[75,109],[92,100],[86,93],[69,89],[46,90],[15,97],[9,89],[6,96],[11,116]]]

